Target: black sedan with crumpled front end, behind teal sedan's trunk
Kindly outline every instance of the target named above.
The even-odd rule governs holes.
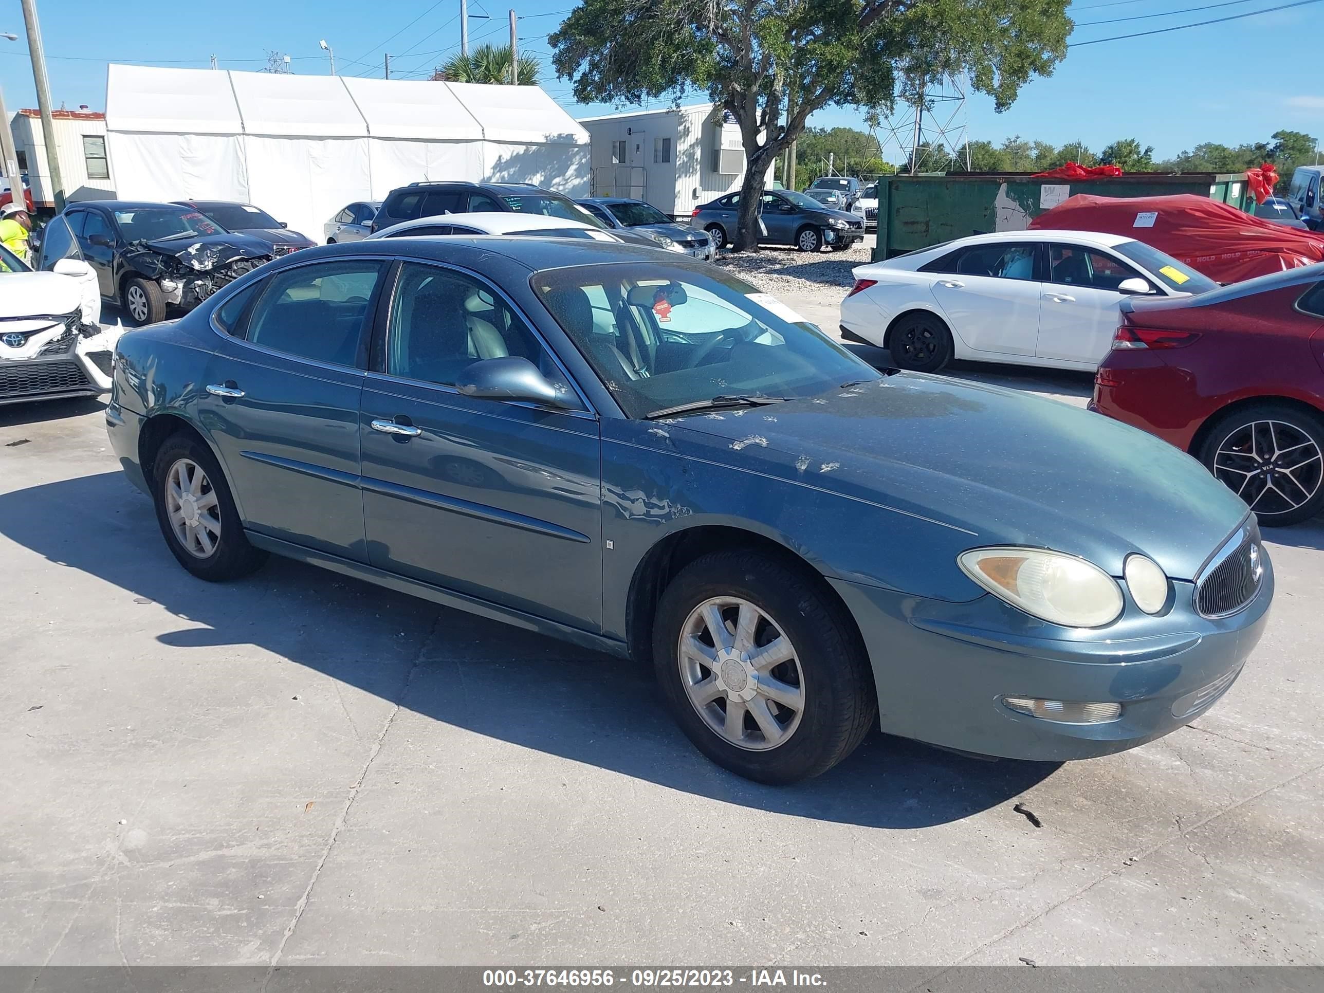
[[[71,237],[77,250],[70,245],[70,252],[97,273],[102,299],[122,307],[132,324],[164,320],[169,307],[192,310],[271,258],[269,242],[177,204],[79,203],[53,225],[65,228],[57,240]]]

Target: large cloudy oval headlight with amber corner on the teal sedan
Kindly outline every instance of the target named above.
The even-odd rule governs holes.
[[[961,552],[957,563],[989,593],[1041,621],[1102,628],[1121,613],[1116,580],[1074,555],[1043,548],[972,548]]]

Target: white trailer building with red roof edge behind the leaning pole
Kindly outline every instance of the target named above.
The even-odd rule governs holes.
[[[82,110],[53,110],[56,162],[66,200],[98,200],[115,189],[106,155],[106,115]],[[36,110],[19,110],[11,122],[13,148],[25,163],[33,207],[54,209],[56,191],[46,162],[46,138]]]

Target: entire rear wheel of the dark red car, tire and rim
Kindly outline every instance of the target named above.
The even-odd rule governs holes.
[[[1214,478],[1286,527],[1324,510],[1324,416],[1291,404],[1251,404],[1219,417],[1194,453]]]

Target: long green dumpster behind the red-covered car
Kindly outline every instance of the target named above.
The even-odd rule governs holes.
[[[878,181],[874,261],[968,234],[1023,230],[1068,196],[1207,196],[1250,212],[1245,172],[1129,172],[1115,179],[1033,179],[1029,172],[933,172]]]

